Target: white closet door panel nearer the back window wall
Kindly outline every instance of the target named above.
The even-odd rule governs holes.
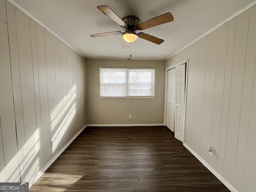
[[[168,70],[166,126],[174,132],[175,68]]]

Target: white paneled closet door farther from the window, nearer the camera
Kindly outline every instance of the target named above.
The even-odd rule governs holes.
[[[175,68],[175,132],[174,137],[184,142],[185,64]]]

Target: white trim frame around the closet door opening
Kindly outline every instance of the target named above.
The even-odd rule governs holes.
[[[186,79],[185,79],[185,103],[184,103],[184,135],[185,135],[185,119],[186,119],[186,104],[187,104],[187,85],[188,85],[188,59],[173,66],[166,68],[165,71],[165,88],[164,88],[164,126],[166,126],[166,105],[167,105],[167,84],[168,84],[168,70],[175,68],[176,66],[186,64]],[[174,130],[175,131],[175,130]],[[184,141],[184,138],[183,138]]]

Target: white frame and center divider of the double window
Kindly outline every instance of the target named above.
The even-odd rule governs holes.
[[[102,70],[107,69],[107,70],[126,70],[126,96],[111,96],[111,95],[104,95],[102,93]],[[152,95],[150,96],[138,96],[138,95],[131,95],[130,94],[130,84],[133,82],[130,82],[130,71],[131,70],[144,70],[144,71],[152,71],[153,72],[153,77],[152,77],[152,82],[146,82],[150,83],[152,88]],[[100,88],[100,98],[155,98],[155,85],[156,85],[156,69],[155,68],[99,68],[99,88]],[[135,82],[134,84],[143,84],[143,82]]]

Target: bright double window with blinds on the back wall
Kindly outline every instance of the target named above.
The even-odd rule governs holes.
[[[154,97],[155,72],[155,69],[100,68],[100,96]]]

